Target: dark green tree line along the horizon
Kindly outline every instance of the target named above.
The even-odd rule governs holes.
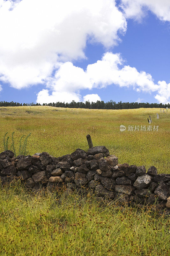
[[[72,100],[70,103],[56,102],[56,103],[18,103],[18,102],[7,102],[0,101],[0,107],[19,107],[19,106],[51,106],[58,108],[89,108],[89,109],[132,109],[132,108],[170,108],[170,104],[162,103],[144,103],[144,102],[118,102],[113,100],[104,102],[103,100],[97,100],[96,102],[75,102]]]

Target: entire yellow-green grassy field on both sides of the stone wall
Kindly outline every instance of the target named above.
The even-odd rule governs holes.
[[[56,111],[57,110],[57,111]],[[27,112],[28,111],[28,112]],[[76,148],[105,145],[119,163],[151,165],[169,172],[170,111],[89,110],[53,107],[0,108],[0,151],[6,132],[18,145],[32,132],[28,153],[62,156]],[[159,125],[158,131],[120,132],[120,125]],[[170,221],[151,211],[100,205],[92,196],[28,193],[20,183],[0,187],[0,255],[169,256]]]

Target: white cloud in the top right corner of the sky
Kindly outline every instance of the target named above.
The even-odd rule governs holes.
[[[141,20],[150,10],[160,20],[170,21],[169,0],[121,0],[121,7],[127,18]]]

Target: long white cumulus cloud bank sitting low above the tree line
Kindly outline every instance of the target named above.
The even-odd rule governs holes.
[[[138,72],[136,68],[124,65],[120,53],[106,52],[101,60],[89,64],[85,71],[71,62],[58,64],[55,76],[47,79],[47,86],[52,94],[49,95],[49,91],[42,90],[38,94],[37,102],[61,101],[57,100],[60,97],[58,95],[64,95],[66,92],[70,93],[69,97],[66,97],[68,102],[75,100],[75,97],[81,100],[81,89],[100,89],[112,84],[133,88],[137,92],[157,92],[155,99],[162,103],[168,102],[170,98],[169,84],[165,81],[155,84],[151,74],[145,71]],[[45,96],[46,101],[41,100],[41,94],[44,99],[44,93],[47,96]],[[98,95],[95,97],[99,100]],[[66,102],[66,98],[63,101]],[[94,101],[94,94],[86,95],[84,101],[86,99]]]

